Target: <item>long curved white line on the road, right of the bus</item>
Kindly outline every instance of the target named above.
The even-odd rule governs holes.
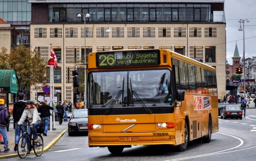
[[[217,132],[217,133],[220,133],[220,132]],[[224,133],[220,133],[220,134],[228,135],[228,134],[224,134]],[[230,148],[230,149],[226,149],[226,150],[222,150],[222,151],[219,151],[219,152],[213,152],[213,153],[209,153],[209,154],[201,154],[201,155],[197,155],[197,156],[188,156],[188,157],[184,157],[184,158],[171,159],[171,160],[166,160],[166,161],[179,161],[179,160],[185,160],[185,159],[191,159],[191,158],[199,158],[199,157],[203,157],[203,156],[211,156],[211,155],[218,155],[218,154],[223,154],[223,153],[229,153],[229,152],[225,152],[225,151],[228,151],[228,150],[231,150],[231,149],[235,149],[235,148],[240,147],[240,146],[242,146],[244,144],[244,141],[242,139],[239,139],[238,137],[235,137],[235,136],[232,136],[232,135],[228,135],[228,136],[231,136],[231,137],[234,137],[234,138],[238,139],[240,141],[240,144],[237,145],[236,147],[233,147],[233,148]],[[220,152],[222,152],[222,153],[220,153]]]

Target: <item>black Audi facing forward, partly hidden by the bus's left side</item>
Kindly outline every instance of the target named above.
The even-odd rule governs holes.
[[[88,134],[88,111],[87,109],[77,109],[73,111],[69,118],[69,136],[75,133]]]

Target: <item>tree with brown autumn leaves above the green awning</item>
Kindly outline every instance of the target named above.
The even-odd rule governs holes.
[[[40,53],[32,51],[31,47],[26,48],[21,44],[9,52],[2,47],[0,62],[0,69],[15,70],[19,91],[47,80],[46,64],[40,59]]]

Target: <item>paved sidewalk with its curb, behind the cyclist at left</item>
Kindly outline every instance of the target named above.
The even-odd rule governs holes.
[[[69,115],[71,115],[71,113],[69,113]],[[59,125],[59,121],[55,121],[55,128],[56,130],[52,130],[52,132],[48,130],[47,136],[43,136],[42,134],[43,141],[44,141],[44,152],[45,152],[45,149],[46,150],[50,149],[60,139],[60,137],[62,137],[62,135],[66,132],[68,128],[68,121],[63,122],[62,125]],[[10,151],[4,152],[4,145],[0,144],[0,149],[1,149],[0,159],[14,157],[16,156],[14,154],[17,154],[17,152],[14,152],[15,130],[13,129],[13,123],[10,123],[9,132],[7,132],[7,134],[8,134],[8,142],[9,142],[8,148],[10,149]]]

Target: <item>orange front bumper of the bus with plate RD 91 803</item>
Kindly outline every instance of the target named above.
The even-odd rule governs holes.
[[[176,145],[175,132],[89,133],[88,142],[89,147],[106,147],[111,145]]]

